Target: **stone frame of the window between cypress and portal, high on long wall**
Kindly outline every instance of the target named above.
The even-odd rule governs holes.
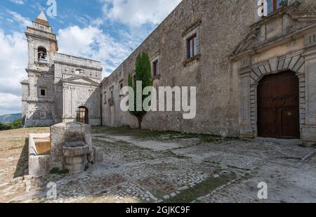
[[[202,20],[197,20],[197,22],[193,23],[190,27],[183,32],[183,66],[186,67],[187,64],[199,60],[201,58],[201,34],[200,34],[200,26]],[[187,40],[191,37],[197,37],[197,54],[192,58],[188,58],[187,51]]]

